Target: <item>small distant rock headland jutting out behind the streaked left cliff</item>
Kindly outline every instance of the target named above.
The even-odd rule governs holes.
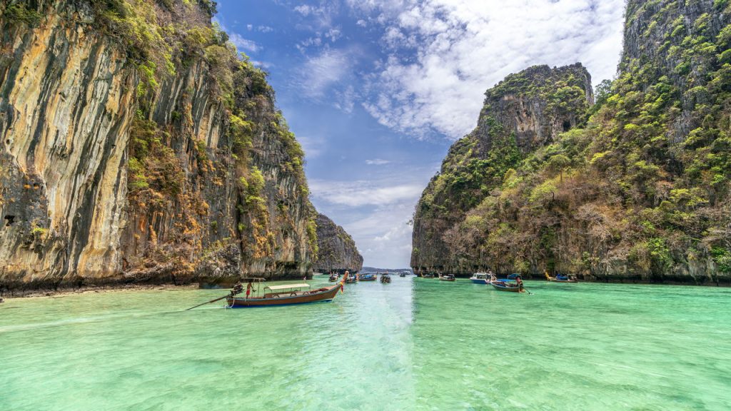
[[[350,271],[355,274],[363,268],[363,256],[355,241],[343,227],[323,214],[317,214],[317,261],[314,270],[319,273]]]

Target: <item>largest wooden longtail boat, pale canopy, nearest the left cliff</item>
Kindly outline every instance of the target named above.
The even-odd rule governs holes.
[[[309,287],[309,284],[275,285],[266,287],[270,292],[263,297],[228,297],[226,301],[231,308],[259,307],[259,306],[286,306],[289,304],[317,303],[320,301],[333,301],[338,291],[343,287],[339,282],[330,287],[322,287],[317,290],[297,290]]]

